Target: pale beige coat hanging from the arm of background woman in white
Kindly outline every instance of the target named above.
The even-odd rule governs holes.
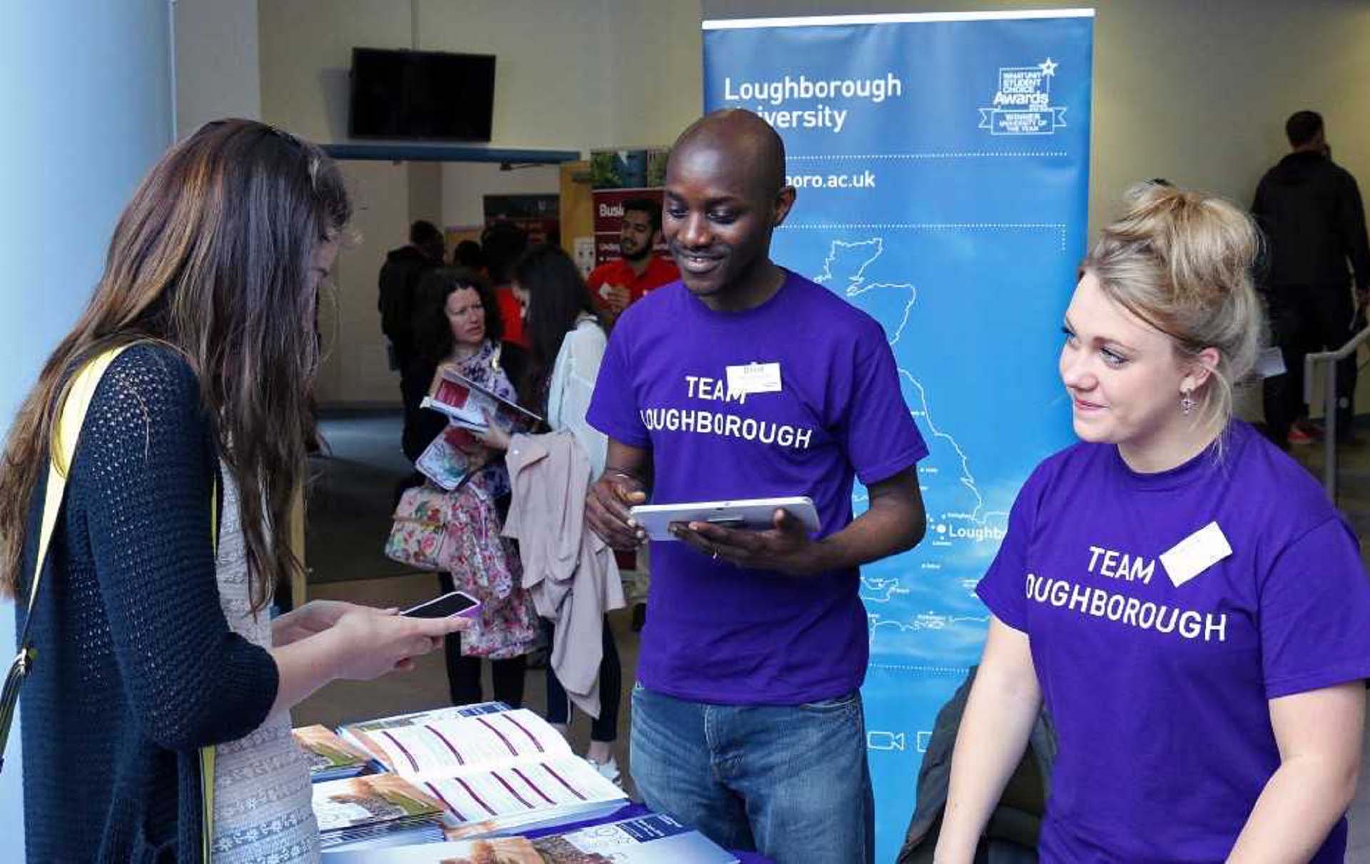
[[[518,541],[523,587],[556,624],[548,661],[571,702],[599,717],[604,612],[623,608],[614,550],[585,527],[593,477],[570,431],[514,435],[506,464],[514,486],[504,537]]]

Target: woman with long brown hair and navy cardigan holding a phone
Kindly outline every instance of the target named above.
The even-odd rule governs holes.
[[[0,597],[19,597],[30,861],[318,859],[289,708],[460,626],[341,602],[270,619],[300,563],[318,286],[351,204],[316,147],[251,120],[171,148],[15,419],[0,474]],[[77,370],[104,372],[26,615],[49,446]],[[212,831],[200,748],[214,746]],[[208,797],[208,796],[204,796]]]

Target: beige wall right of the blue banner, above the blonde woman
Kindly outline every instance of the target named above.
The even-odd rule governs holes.
[[[1145,177],[1249,204],[1300,108],[1323,114],[1336,159],[1370,181],[1370,4],[1110,1],[1096,27],[1091,229]]]

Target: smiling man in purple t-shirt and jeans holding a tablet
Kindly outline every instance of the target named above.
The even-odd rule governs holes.
[[[923,534],[927,448],[873,319],[777,267],[789,212],[780,136],[747,111],[681,134],[663,233],[682,281],[619,319],[589,422],[610,437],[586,504],[615,548],[629,507],[808,496],[810,535],[690,523],[652,548],[633,693],[633,778],[647,804],[780,864],[870,861],[858,567]],[[852,520],[852,481],[870,507]]]

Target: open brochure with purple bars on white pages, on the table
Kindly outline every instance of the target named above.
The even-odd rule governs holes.
[[[441,708],[344,726],[344,739],[441,802],[451,839],[611,813],[623,790],[532,711]]]

